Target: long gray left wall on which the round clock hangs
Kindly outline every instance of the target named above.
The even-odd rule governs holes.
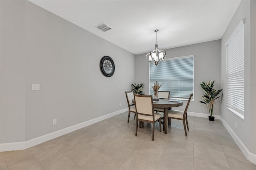
[[[28,1],[0,3],[0,143],[28,141],[127,108],[134,54]],[[115,62],[110,78],[100,72],[104,55]],[[40,84],[40,91],[31,91],[31,84]]]

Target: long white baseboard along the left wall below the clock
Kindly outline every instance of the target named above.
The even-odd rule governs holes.
[[[61,130],[58,130],[58,131],[40,136],[40,137],[37,137],[37,138],[34,138],[34,139],[30,139],[30,140],[25,141],[25,142],[1,143],[0,144],[0,152],[11,151],[11,150],[28,149],[30,147],[34,147],[36,145],[39,145],[40,143],[44,143],[44,142],[49,141],[51,139],[54,139],[56,137],[60,137],[60,136],[65,135],[67,133],[76,131],[78,129],[81,129],[81,128],[89,126],[89,125],[92,125],[94,123],[97,123],[99,121],[108,119],[108,118],[113,117],[115,115],[118,115],[120,113],[124,113],[125,111],[128,111],[128,108],[118,110],[118,111],[115,111],[113,113],[109,113],[107,115],[103,115],[101,117],[97,117],[97,118],[89,120],[89,121],[78,123],[76,125],[73,125],[73,126],[70,126],[70,127],[67,127],[67,128],[64,128],[64,129],[61,129]]]

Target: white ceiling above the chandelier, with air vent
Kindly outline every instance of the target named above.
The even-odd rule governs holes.
[[[134,54],[221,39],[241,0],[29,0]],[[102,32],[95,26],[106,23]]]

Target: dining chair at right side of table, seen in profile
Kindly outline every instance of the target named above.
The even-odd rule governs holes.
[[[187,124],[187,128],[188,128],[187,113],[188,113],[188,107],[190,105],[190,101],[191,101],[192,96],[193,96],[193,93],[190,94],[190,96],[189,96],[188,103],[186,105],[186,108],[185,108],[184,112],[183,111],[176,111],[176,110],[168,110],[168,119],[170,119],[169,123],[171,124],[172,119],[182,120],[186,136],[188,136],[187,131],[186,131],[186,124]],[[185,123],[185,121],[186,121],[186,123]],[[189,129],[188,129],[188,131],[189,131]]]

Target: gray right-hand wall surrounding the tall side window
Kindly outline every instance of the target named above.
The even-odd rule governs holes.
[[[230,35],[236,29],[238,23],[246,18],[244,26],[244,120],[229,111],[226,105],[226,47]],[[221,84],[224,89],[224,97],[221,106],[221,117],[234,131],[238,138],[244,143],[247,149],[256,154],[256,115],[255,115],[255,94],[256,94],[256,1],[243,0],[234,14],[221,39]],[[237,128],[235,128],[235,121]]]

